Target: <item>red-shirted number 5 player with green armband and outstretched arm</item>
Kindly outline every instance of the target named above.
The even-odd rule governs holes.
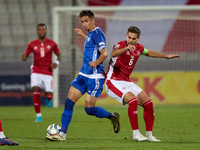
[[[120,41],[113,46],[111,59],[106,74],[106,90],[110,97],[116,99],[123,105],[128,104],[128,116],[133,129],[134,141],[160,141],[152,135],[154,124],[153,101],[136,84],[130,81],[133,68],[140,55],[155,58],[179,58],[179,55],[166,55],[144,48],[137,43],[140,39],[140,29],[135,26],[129,27],[126,40]],[[138,127],[138,105],[144,108],[144,121],[146,124],[146,137],[139,132]]]

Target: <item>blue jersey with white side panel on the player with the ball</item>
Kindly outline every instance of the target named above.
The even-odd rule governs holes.
[[[104,72],[103,62],[94,68],[91,68],[89,62],[95,62],[99,56],[100,51],[106,47],[106,38],[103,31],[97,27],[87,34],[83,50],[83,66],[81,73],[87,75],[97,75]]]

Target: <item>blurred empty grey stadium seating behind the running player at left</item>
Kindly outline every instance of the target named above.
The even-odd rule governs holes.
[[[47,25],[47,37],[52,38],[52,7],[71,3],[72,0],[0,0],[0,62],[21,61],[27,44],[37,38],[38,23]]]

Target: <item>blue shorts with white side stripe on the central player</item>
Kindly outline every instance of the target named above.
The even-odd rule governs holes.
[[[82,75],[78,75],[71,83],[71,86],[77,88],[82,95],[87,92],[93,97],[99,97],[103,91],[103,84],[105,79],[90,79]]]

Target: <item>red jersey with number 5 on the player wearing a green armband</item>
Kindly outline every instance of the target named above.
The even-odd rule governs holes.
[[[121,41],[113,46],[113,50],[122,49],[127,46],[126,41]],[[133,52],[127,50],[117,57],[112,57],[106,74],[107,79],[130,81],[129,76],[143,51],[144,46],[137,43],[136,49]]]

